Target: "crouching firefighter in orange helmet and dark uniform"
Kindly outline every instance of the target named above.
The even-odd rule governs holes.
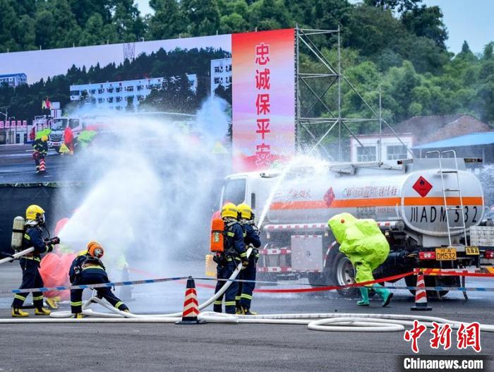
[[[100,258],[103,247],[97,241],[88,243],[88,251],[76,257],[68,271],[73,285],[109,283],[106,269]],[[96,288],[97,297],[106,299],[121,311],[128,312],[128,307],[112,293],[109,287]],[[83,289],[71,289],[71,310],[74,318],[83,318]]]

